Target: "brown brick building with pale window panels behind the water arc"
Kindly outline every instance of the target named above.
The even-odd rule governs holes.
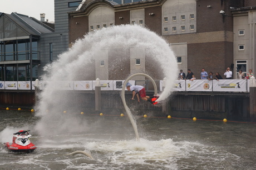
[[[199,78],[201,68],[205,68],[208,72],[213,71],[214,74],[218,71],[223,75],[225,69],[230,66],[234,71],[235,79],[237,68],[242,66],[239,65],[241,59],[247,62],[244,72],[248,72],[250,68],[254,71],[256,69],[254,49],[250,54],[242,54],[243,57],[239,58],[241,54],[237,54],[237,43],[241,44],[239,40],[243,38],[237,39],[234,32],[234,24],[240,22],[237,13],[247,13],[245,14],[247,20],[250,16],[248,13],[253,13],[254,8],[249,6],[256,6],[256,2],[252,0],[152,0],[131,3],[82,1],[76,11],[68,13],[69,44],[71,46],[71,43],[82,38],[84,34],[102,27],[140,24],[170,43],[180,69],[190,68]],[[256,17],[252,17],[255,20]],[[255,31],[255,22],[249,24]],[[244,27],[249,27],[249,24],[245,22]],[[255,42],[255,37],[251,43],[248,40],[249,46],[244,48],[253,47],[252,41]]]

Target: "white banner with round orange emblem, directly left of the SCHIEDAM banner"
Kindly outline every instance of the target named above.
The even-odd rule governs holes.
[[[212,80],[186,80],[186,91],[212,91]]]

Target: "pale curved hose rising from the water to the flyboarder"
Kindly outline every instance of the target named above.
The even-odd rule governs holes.
[[[132,74],[130,75],[126,80],[125,80],[125,83],[124,85],[122,86],[122,94],[121,94],[121,98],[122,98],[122,103],[124,104],[124,107],[125,107],[125,111],[131,121],[131,125],[132,127],[134,128],[134,132],[135,132],[135,135],[136,135],[136,140],[139,141],[140,140],[140,137],[139,137],[139,133],[137,131],[137,125],[136,125],[136,120],[134,119],[134,117],[132,116],[131,114],[131,111],[129,109],[129,107],[126,105],[126,101],[125,101],[125,87],[126,87],[126,84],[129,82],[129,80],[131,80],[132,78],[134,78],[135,76],[145,76],[146,78],[150,79],[150,81],[152,82],[153,86],[154,86],[154,93],[155,95],[157,94],[157,87],[156,87],[156,83],[155,81],[147,74],[144,74],[144,73],[136,73],[136,74]]]

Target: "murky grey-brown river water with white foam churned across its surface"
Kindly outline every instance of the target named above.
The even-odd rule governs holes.
[[[41,136],[33,131],[40,119],[35,113],[0,110],[0,169],[256,168],[254,123],[141,116],[137,117],[140,141],[136,141],[129,119],[119,115],[72,113],[86,123],[83,132]],[[18,130],[31,130],[37,146],[33,153],[11,153],[4,147],[3,142],[11,142]],[[94,159],[66,155],[73,151],[86,151]]]

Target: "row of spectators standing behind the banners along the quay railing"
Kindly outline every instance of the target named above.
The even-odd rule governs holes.
[[[209,74],[205,71],[205,69],[203,68],[201,70],[201,79],[202,80],[220,80],[223,79],[222,76],[216,72],[215,75],[213,74],[213,72],[209,72]],[[225,76],[225,79],[232,79],[232,71],[230,70],[230,68],[228,67],[225,71],[225,73],[223,74]],[[246,76],[245,76],[246,75]],[[239,73],[237,74],[237,79],[250,79],[254,77],[253,74],[253,70],[249,69],[249,73],[243,73],[243,70],[239,70]],[[178,76],[178,80],[195,80],[195,75],[194,73],[188,69],[188,73],[187,75],[183,72],[183,70],[180,70],[179,76]]]

